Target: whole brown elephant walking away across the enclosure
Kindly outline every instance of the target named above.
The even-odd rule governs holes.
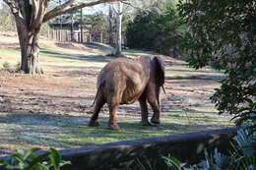
[[[108,126],[110,129],[118,130],[116,115],[118,105],[131,104],[137,99],[141,107],[141,124],[151,125],[148,120],[147,101],[154,111],[151,122],[160,124],[160,86],[163,84],[164,65],[160,57],[141,56],[136,59],[112,60],[97,77],[95,108],[89,126],[99,126],[98,113],[107,103]]]

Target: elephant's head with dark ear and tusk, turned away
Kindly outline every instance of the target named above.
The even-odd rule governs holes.
[[[154,57],[152,59],[151,67],[152,67],[151,77],[153,78],[151,80],[156,85],[155,92],[158,98],[158,103],[160,105],[160,86],[163,87],[164,76],[165,76],[164,64],[163,64],[163,61],[160,59],[160,57]]]

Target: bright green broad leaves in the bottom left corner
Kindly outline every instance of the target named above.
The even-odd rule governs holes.
[[[0,161],[1,170],[60,170],[61,166],[70,164],[69,161],[61,160],[60,153],[50,148],[42,154],[35,154],[39,148],[29,151],[22,149],[13,153],[8,160]]]

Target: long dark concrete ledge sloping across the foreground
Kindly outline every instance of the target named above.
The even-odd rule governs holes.
[[[120,164],[133,158],[154,158],[168,153],[182,161],[193,163],[198,161],[205,148],[218,147],[226,151],[236,132],[237,129],[231,128],[63,149],[60,150],[62,159],[70,160],[72,165],[62,169],[119,169]]]

